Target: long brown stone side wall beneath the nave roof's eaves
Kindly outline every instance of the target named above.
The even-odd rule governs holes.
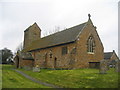
[[[32,54],[35,59],[34,65],[39,65],[41,68],[69,68],[70,60],[76,56],[70,56],[70,52],[75,45],[76,43],[71,43],[33,52]],[[65,46],[68,48],[68,54],[62,55],[62,47]]]

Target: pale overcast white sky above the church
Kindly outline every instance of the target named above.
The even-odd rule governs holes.
[[[14,52],[23,41],[24,30],[34,22],[45,33],[56,26],[62,30],[86,22],[90,13],[104,51],[118,52],[118,1],[1,0],[0,49],[7,47]]]

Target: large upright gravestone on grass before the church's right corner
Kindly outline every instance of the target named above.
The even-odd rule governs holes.
[[[107,60],[101,60],[100,61],[99,73],[100,74],[106,74],[107,70],[108,70],[108,61]]]

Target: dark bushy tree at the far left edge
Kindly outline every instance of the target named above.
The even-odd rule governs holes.
[[[2,64],[7,64],[9,62],[7,60],[12,60],[12,58],[13,58],[12,51],[7,48],[0,50],[0,53],[2,56]]]

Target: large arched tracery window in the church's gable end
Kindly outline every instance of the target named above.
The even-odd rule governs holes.
[[[93,36],[90,36],[87,41],[87,52],[94,53],[95,51],[95,41]]]

